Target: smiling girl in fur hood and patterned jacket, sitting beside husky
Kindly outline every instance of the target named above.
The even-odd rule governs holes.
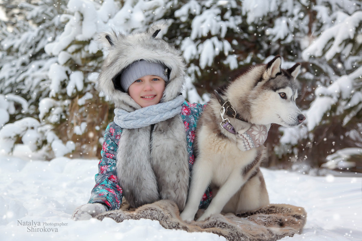
[[[185,63],[180,51],[156,38],[164,25],[145,33],[104,34],[109,53],[98,88],[115,104],[106,128],[88,204],[73,219],[118,209],[123,195],[131,207],[159,199],[184,208],[194,162],[194,132],[203,105],[181,95]],[[201,206],[210,202],[206,191]]]

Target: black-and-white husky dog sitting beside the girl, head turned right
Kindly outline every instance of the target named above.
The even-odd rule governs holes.
[[[211,96],[198,123],[198,156],[181,219],[194,219],[208,185],[214,198],[198,221],[220,212],[238,213],[269,204],[259,169],[266,153],[262,143],[271,123],[294,127],[305,120],[295,104],[299,69],[299,63],[281,69],[278,55],[268,64],[251,66],[221,94],[215,91]],[[253,143],[248,139],[253,133],[264,133],[264,138]]]

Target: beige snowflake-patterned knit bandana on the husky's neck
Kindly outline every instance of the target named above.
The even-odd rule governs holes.
[[[268,136],[270,125],[252,125],[246,132],[236,133],[237,147],[241,151],[248,151],[264,144]]]

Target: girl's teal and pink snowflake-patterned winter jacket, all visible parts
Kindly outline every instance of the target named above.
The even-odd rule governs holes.
[[[191,172],[194,164],[194,139],[197,121],[201,116],[204,105],[187,101],[182,104],[181,117],[185,124],[187,152],[189,155],[189,169]],[[95,175],[96,185],[94,186],[88,203],[104,203],[109,210],[118,209],[122,203],[123,192],[119,185],[115,168],[118,142],[121,138],[122,128],[114,122],[109,123],[105,130],[104,142],[102,145],[102,159],[98,163],[98,173]],[[199,208],[206,208],[211,202],[211,191],[209,188],[202,197]]]

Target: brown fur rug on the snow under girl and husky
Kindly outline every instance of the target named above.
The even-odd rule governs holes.
[[[123,208],[125,209],[125,208]],[[197,216],[201,215],[199,210]],[[258,210],[243,214],[218,214],[203,222],[185,223],[180,220],[177,205],[161,200],[143,205],[133,211],[114,210],[96,217],[114,219],[117,223],[126,219],[158,220],[167,229],[181,229],[188,232],[210,232],[224,236],[229,241],[271,241],[301,233],[307,220],[302,207],[287,204],[270,204]]]

